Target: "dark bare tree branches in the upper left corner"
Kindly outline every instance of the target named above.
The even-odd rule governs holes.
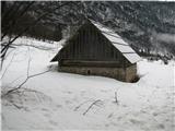
[[[20,19],[24,14],[26,14],[27,11],[30,11],[30,8],[34,4],[33,1],[25,3],[26,5],[23,5],[23,3],[25,3],[25,2],[13,1],[10,4],[9,10],[7,9],[7,11],[5,11],[5,8],[3,8],[3,11],[2,11],[2,37],[1,37],[1,40],[3,40],[3,38],[5,36],[12,35],[13,27],[18,25],[18,22],[20,21]],[[55,9],[52,9],[52,11],[59,10],[60,8],[62,8],[65,5],[68,5],[70,3],[72,3],[72,2],[71,1],[68,1],[68,2],[65,1],[65,2],[62,2],[60,4],[58,4],[57,7],[55,7]],[[3,2],[4,7],[7,7],[5,4],[7,3]],[[48,12],[45,12],[45,13],[40,14],[32,23],[27,24],[25,28],[23,28],[21,32],[15,34],[15,36],[13,38],[11,38],[9,41],[5,41],[5,43],[1,44],[1,46],[2,46],[2,48],[1,48],[1,68],[2,68],[2,64],[3,64],[3,60],[5,58],[7,51],[10,48],[11,44],[13,41],[15,41],[19,37],[24,35],[24,33],[30,31],[33,26],[35,26],[38,22],[40,22],[44,17],[46,17],[50,13],[52,13],[52,12],[48,11]]]

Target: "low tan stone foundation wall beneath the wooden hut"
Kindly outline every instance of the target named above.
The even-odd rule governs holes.
[[[58,71],[84,75],[102,75],[119,81],[130,82],[136,76],[136,66],[124,68],[94,68],[94,67],[59,67]]]

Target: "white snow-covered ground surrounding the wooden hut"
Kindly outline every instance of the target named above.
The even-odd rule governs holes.
[[[19,92],[2,97],[2,130],[173,131],[175,128],[174,61],[165,66],[142,60],[138,63],[140,81],[124,83],[58,72],[57,63],[49,61],[60,43],[19,38],[15,44],[25,46],[9,51],[1,71],[2,94],[25,81],[27,67],[28,75],[50,71],[28,79]]]

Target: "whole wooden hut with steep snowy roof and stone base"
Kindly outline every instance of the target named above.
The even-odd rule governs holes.
[[[52,58],[62,72],[103,75],[130,82],[140,57],[112,29],[88,20]]]

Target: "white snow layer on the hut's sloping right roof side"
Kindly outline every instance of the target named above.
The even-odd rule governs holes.
[[[114,31],[105,27],[104,25],[96,23],[92,20],[90,20],[101,32],[102,34],[110,40],[110,43],[124,55],[125,58],[127,58],[131,63],[135,63],[137,61],[140,61],[141,58],[136,53],[136,51],[124,41],[124,39],[116,34]]]

